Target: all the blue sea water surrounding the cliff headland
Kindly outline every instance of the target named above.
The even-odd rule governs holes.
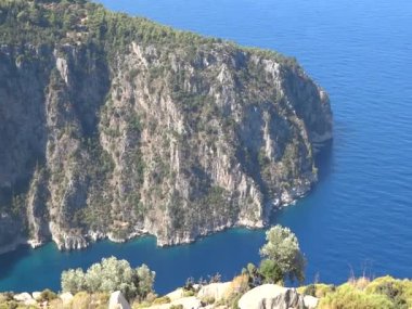
[[[335,140],[321,179],[273,223],[289,227],[308,259],[307,281],[353,272],[412,278],[412,1],[101,0],[107,8],[241,44],[296,56],[327,90]],[[0,256],[0,291],[60,288],[60,273],[111,255],[157,272],[165,293],[259,260],[263,231],[219,233],[156,248],[153,237],[60,253],[53,244]]]

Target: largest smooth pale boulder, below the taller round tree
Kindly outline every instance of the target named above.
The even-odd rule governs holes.
[[[295,288],[263,284],[245,293],[239,300],[240,309],[305,309],[304,296]]]

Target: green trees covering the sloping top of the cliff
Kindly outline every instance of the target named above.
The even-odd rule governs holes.
[[[130,18],[89,0],[0,0],[0,41],[15,46],[87,42],[103,47],[112,56],[128,49],[132,41],[170,49],[189,44],[193,53],[198,46],[222,42],[146,18]],[[273,51],[248,50],[296,64],[296,60]]]

